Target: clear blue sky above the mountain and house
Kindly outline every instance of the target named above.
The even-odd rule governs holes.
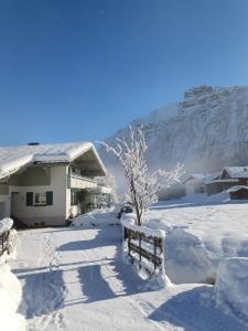
[[[246,0],[0,0],[0,145],[103,140],[192,86],[248,84]]]

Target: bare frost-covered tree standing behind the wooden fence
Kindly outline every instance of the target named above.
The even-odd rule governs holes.
[[[132,202],[137,225],[141,225],[148,205],[158,201],[160,188],[170,186],[179,181],[183,167],[177,164],[172,171],[159,169],[149,172],[144,158],[148,147],[143,128],[141,126],[133,130],[130,126],[129,132],[129,139],[118,138],[116,147],[106,142],[103,142],[103,146],[107,152],[112,152],[117,157],[122,167],[128,186],[127,199]]]

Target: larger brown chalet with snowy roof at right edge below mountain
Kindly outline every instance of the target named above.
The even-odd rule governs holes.
[[[247,185],[248,167],[225,167],[218,175],[205,180],[205,183],[208,195],[220,193],[233,186]]]

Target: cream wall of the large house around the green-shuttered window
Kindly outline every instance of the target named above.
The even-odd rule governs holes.
[[[34,226],[41,225],[64,225],[66,220],[66,186],[67,186],[67,166],[51,167],[51,184],[39,186],[10,186],[11,192],[19,192],[14,204],[13,214],[26,223]],[[26,206],[26,192],[43,193],[53,192],[53,205]]]

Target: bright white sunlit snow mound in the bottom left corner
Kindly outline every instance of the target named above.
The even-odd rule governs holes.
[[[24,331],[25,321],[17,313],[22,290],[18,278],[7,264],[0,264],[0,328],[4,331]]]

